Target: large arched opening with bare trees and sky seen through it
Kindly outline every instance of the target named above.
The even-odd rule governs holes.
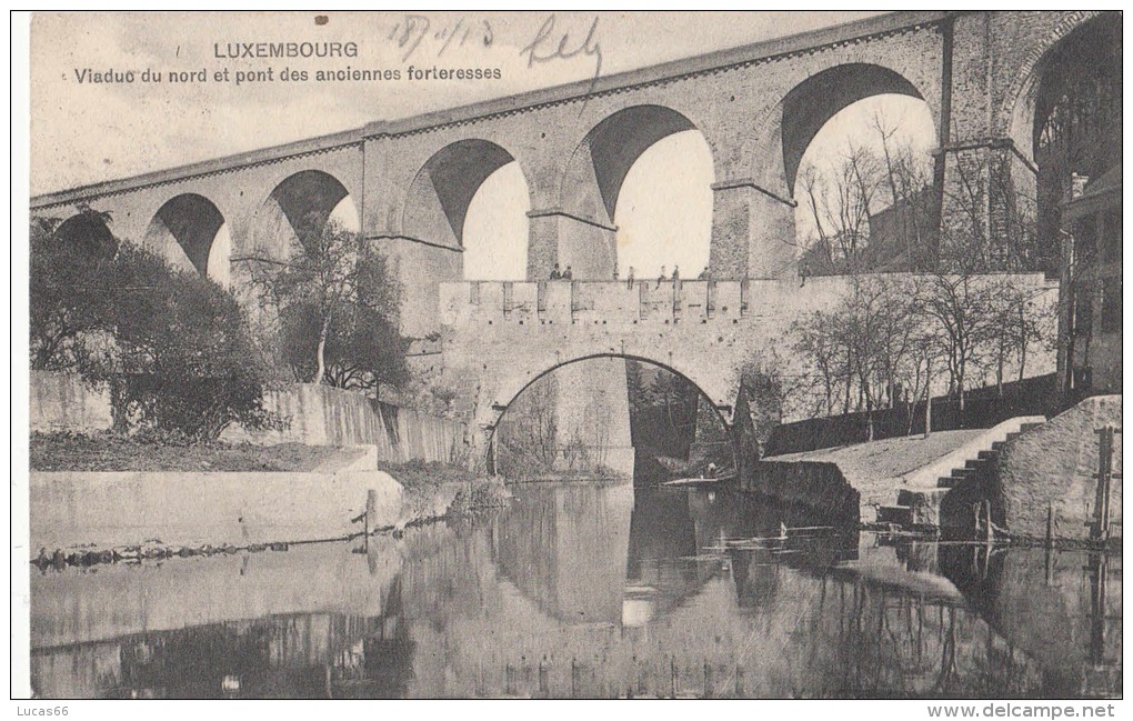
[[[939,198],[932,112],[909,80],[838,66],[783,101],[783,162],[804,275],[922,268]]]

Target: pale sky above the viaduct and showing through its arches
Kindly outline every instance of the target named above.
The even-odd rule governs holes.
[[[554,16],[556,31],[569,31],[580,41],[596,15],[602,73],[608,75],[872,14],[559,12]],[[411,50],[417,36],[401,42],[406,40],[403,14],[332,14],[325,25],[315,25],[312,12],[36,14],[32,23],[32,193],[128,177],[357,128],[372,120],[590,77],[594,59],[582,54],[527,67],[520,49],[550,16],[426,12],[423,17],[427,18],[428,31]],[[417,28],[424,26],[420,17],[414,23]],[[486,46],[488,28],[491,44]],[[222,65],[233,71],[258,69],[265,63],[262,59],[215,59],[214,43],[223,49],[228,43],[314,40],[353,41],[358,57],[308,60],[308,67],[421,67],[442,57],[445,65],[454,67],[466,62],[501,67],[503,79],[448,83],[443,93],[437,92],[436,82],[404,79],[308,82],[301,92],[280,82],[237,87],[215,82],[80,84],[76,79],[76,70],[84,68],[150,68],[165,73],[206,69],[210,74]],[[282,67],[287,61],[275,59],[271,65]],[[885,107],[889,101],[881,102]],[[908,105],[908,99],[900,102]],[[867,105],[868,101],[859,104]],[[824,129],[803,162],[821,164],[834,156],[844,145],[846,133],[860,134],[858,124],[868,121],[875,110],[854,105],[832,119],[828,125],[841,129]],[[842,117],[846,114],[850,117]],[[928,118],[927,109],[923,117]],[[928,138],[925,144],[930,146],[931,120],[927,129],[922,127],[918,133]],[[712,173],[707,145],[697,132],[671,136],[646,151],[631,168],[615,212],[623,273],[633,265],[640,277],[646,277],[662,264],[671,271],[675,263],[690,278],[704,268],[712,227]],[[514,164],[502,168],[484,184],[465,227],[467,278],[523,277],[527,202],[522,171]],[[218,258],[225,252],[224,235],[227,230],[218,239]]]

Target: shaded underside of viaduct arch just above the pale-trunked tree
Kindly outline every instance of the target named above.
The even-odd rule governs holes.
[[[322,230],[334,209],[349,195],[338,178],[322,170],[301,170],[288,176],[256,211],[254,244],[261,252],[282,254],[300,230]]]

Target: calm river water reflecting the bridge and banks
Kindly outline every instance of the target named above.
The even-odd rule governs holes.
[[[1119,557],[989,554],[812,527],[821,519],[725,490],[512,491],[505,509],[368,548],[33,568],[33,688],[49,698],[1122,693]]]

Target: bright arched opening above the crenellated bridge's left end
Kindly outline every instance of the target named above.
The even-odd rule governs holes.
[[[402,227],[411,238],[461,248],[467,280],[523,280],[530,207],[511,153],[488,141],[460,141],[417,173]]]

